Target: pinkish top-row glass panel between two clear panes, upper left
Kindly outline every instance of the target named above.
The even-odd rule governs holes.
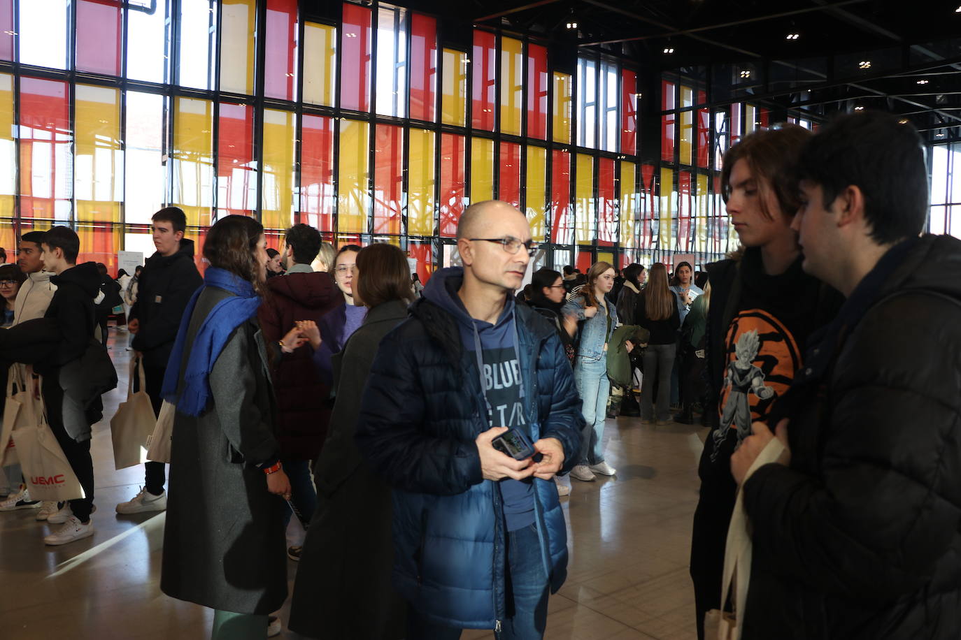
[[[79,0],[77,3],[77,69],[120,75],[119,0]]]

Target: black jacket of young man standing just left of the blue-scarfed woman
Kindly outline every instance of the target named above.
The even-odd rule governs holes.
[[[173,255],[157,251],[147,258],[130,310],[131,319],[140,324],[131,346],[143,352],[144,367],[166,368],[186,303],[203,283],[193,264],[192,240],[181,240]]]

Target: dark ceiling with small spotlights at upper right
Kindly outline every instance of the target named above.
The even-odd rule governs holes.
[[[398,0],[445,30],[500,27],[700,77],[716,104],[878,108],[961,139],[961,0]],[[577,22],[570,30],[568,22]],[[797,34],[796,39],[788,39]],[[664,54],[672,48],[673,54]],[[869,65],[865,65],[869,62]],[[750,71],[742,79],[741,72]]]

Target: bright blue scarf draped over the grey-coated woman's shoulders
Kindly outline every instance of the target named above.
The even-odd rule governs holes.
[[[234,294],[217,302],[203,324],[197,330],[190,348],[190,359],[184,369],[184,388],[178,396],[180,372],[184,359],[187,327],[193,315],[197,298],[208,287],[216,287]],[[163,375],[163,388],[160,394],[165,400],[177,405],[177,411],[186,415],[200,415],[210,399],[209,376],[213,364],[223,351],[224,345],[234,329],[257,314],[260,296],[254,285],[216,267],[209,267],[204,273],[204,286],[200,287],[187,302],[184,317],[181,319],[177,341],[174,343],[167,370]]]

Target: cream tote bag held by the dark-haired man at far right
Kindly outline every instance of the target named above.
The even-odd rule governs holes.
[[[784,444],[779,439],[771,439],[761,450],[761,453],[744,476],[744,483],[748,482],[754,471],[776,462],[784,451]],[[704,637],[708,640],[740,640],[741,628],[744,626],[744,608],[748,603],[748,586],[751,583],[752,543],[751,533],[748,532],[748,514],[744,512],[744,498],[740,488],[734,501],[734,512],[730,516],[730,526],[727,527],[727,543],[724,554],[724,575],[721,579],[721,609],[711,609],[704,614]],[[724,610],[727,594],[734,589],[734,613]]]

